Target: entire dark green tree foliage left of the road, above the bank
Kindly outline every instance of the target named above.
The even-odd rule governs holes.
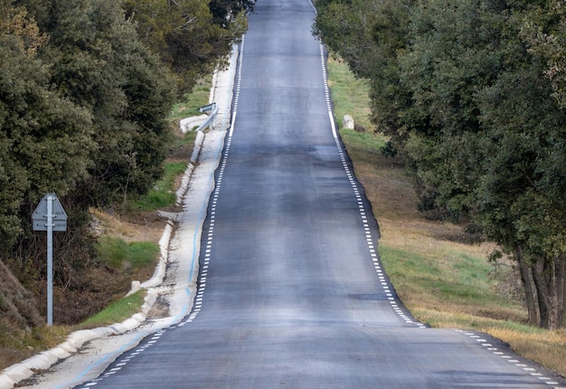
[[[4,249],[29,244],[30,213],[46,192],[79,213],[146,194],[163,174],[172,138],[170,70],[192,87],[231,51],[252,6],[2,0]]]

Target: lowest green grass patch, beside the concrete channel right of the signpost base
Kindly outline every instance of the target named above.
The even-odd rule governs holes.
[[[144,304],[146,290],[139,290],[124,299],[118,299],[99,313],[80,323],[80,328],[105,327],[131,318]]]

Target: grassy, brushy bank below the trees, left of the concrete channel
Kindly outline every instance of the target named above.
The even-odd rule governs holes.
[[[147,194],[128,198],[126,203],[120,203],[111,212],[101,208],[90,209],[93,221],[90,223],[90,232],[97,236],[93,254],[96,266],[86,271],[90,278],[94,277],[92,280],[96,282],[98,291],[89,293],[82,290],[78,296],[83,302],[78,304],[77,312],[67,306],[67,300],[63,299],[68,290],[55,286],[55,325],[52,327],[44,323],[38,323],[35,327],[14,327],[0,322],[0,371],[61,344],[73,331],[118,323],[139,311],[146,292],[139,290],[127,298],[124,296],[132,280],[148,280],[156,268],[159,254],[157,243],[166,223],[164,218],[157,215],[157,211],[176,210],[175,192],[194,145],[195,134],[182,134],[179,120],[200,114],[198,108],[208,103],[210,82],[211,77],[197,81],[193,92],[185,94],[171,111],[168,121],[174,136],[168,144],[165,173],[152,189]],[[57,234],[54,235],[56,239]],[[86,273],[80,274],[82,277]],[[3,283],[3,287],[6,289],[8,286]],[[40,285],[39,293],[44,288],[44,284]],[[87,299],[89,302],[86,302]],[[71,324],[73,321],[75,324]]]

